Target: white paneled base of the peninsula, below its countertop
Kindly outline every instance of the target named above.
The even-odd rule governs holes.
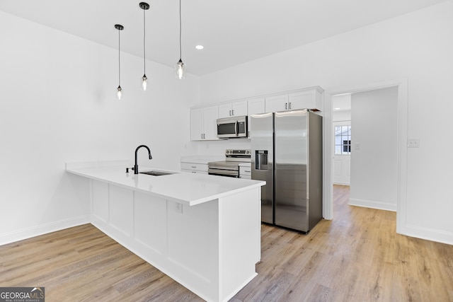
[[[93,226],[205,301],[228,301],[256,277],[260,187],[195,206],[98,180],[90,188]]]

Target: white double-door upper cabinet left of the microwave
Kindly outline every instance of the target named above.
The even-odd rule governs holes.
[[[219,108],[207,106],[190,110],[190,139],[193,141],[217,140]]]

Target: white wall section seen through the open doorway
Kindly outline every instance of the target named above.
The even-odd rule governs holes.
[[[398,87],[352,93],[351,103],[349,204],[396,211]]]

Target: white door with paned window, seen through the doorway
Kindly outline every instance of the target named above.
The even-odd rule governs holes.
[[[351,121],[333,122],[333,183],[350,185]]]

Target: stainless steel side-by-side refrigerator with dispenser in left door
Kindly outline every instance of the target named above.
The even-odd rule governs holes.
[[[322,219],[322,117],[309,110],[251,115],[252,179],[261,220],[307,233]]]

